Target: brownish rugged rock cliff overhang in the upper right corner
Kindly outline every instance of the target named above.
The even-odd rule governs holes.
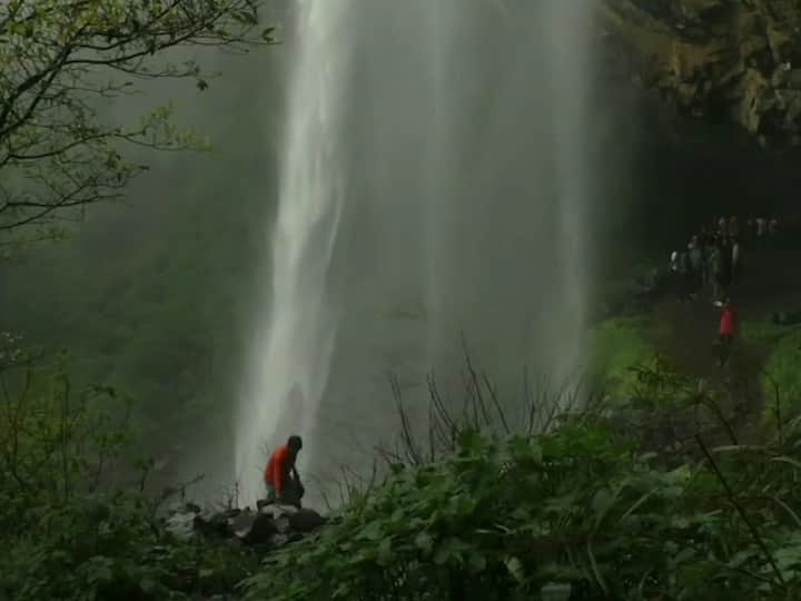
[[[801,0],[603,0],[603,42],[682,114],[801,145]]]

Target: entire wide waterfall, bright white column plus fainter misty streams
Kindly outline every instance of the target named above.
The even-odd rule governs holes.
[[[594,174],[589,0],[296,0],[283,165],[236,471],[353,462],[384,374],[581,362]]]

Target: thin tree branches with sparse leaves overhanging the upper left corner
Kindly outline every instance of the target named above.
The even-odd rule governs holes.
[[[0,245],[51,237],[59,220],[119,198],[147,169],[127,145],[197,147],[169,107],[135,126],[103,124],[102,102],[142,78],[207,77],[170,49],[247,51],[271,43],[259,31],[260,0],[2,0],[0,2]],[[166,56],[167,55],[167,56]]]

